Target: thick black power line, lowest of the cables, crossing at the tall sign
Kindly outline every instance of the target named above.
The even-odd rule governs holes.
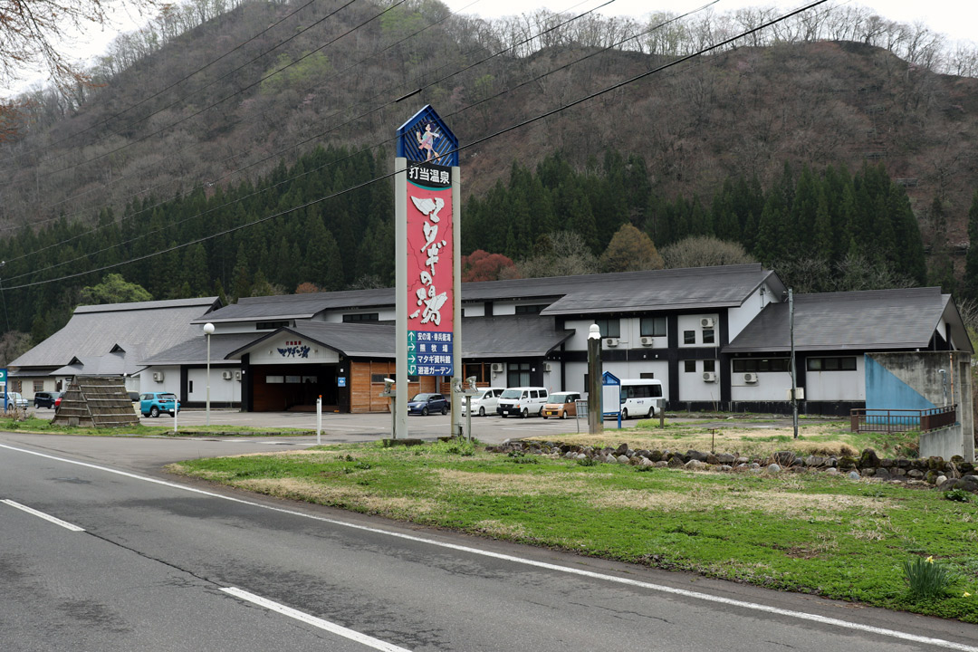
[[[591,93],[591,94],[585,95],[585,96],[583,96],[581,98],[578,98],[577,100],[574,100],[573,102],[570,102],[570,103],[568,103],[568,104],[566,104],[566,105],[564,105],[562,107],[558,107],[556,109],[551,109],[549,111],[545,111],[543,113],[539,113],[538,115],[536,115],[534,117],[527,118],[527,119],[522,120],[520,122],[517,122],[517,123],[515,123],[515,124],[513,124],[513,125],[511,125],[509,127],[506,127],[505,129],[501,129],[501,130],[499,130],[499,131],[497,131],[495,133],[492,133],[492,134],[489,134],[487,136],[483,136],[482,138],[476,139],[475,141],[472,141],[471,143],[467,143],[464,146],[460,146],[460,147],[456,148],[455,150],[453,150],[451,152],[444,152],[444,153],[445,154],[448,154],[448,153],[453,153],[453,152],[461,152],[463,150],[467,150],[468,148],[472,148],[472,147],[475,147],[477,145],[480,145],[481,143],[484,143],[486,141],[489,141],[489,140],[491,140],[493,138],[498,138],[499,136],[502,136],[504,134],[507,134],[507,133],[509,133],[509,132],[511,132],[513,130],[520,129],[520,128],[525,127],[525,126],[527,126],[529,124],[532,124],[532,123],[537,122],[539,120],[542,120],[544,118],[550,117],[551,115],[555,115],[556,113],[558,113],[560,111],[563,111],[563,110],[566,110],[566,109],[571,109],[571,108],[576,107],[576,106],[578,106],[580,104],[583,104],[585,102],[588,102],[590,100],[593,100],[595,98],[598,98],[601,95],[604,95],[606,93],[610,93],[610,92],[615,91],[615,90],[617,90],[619,88],[623,88],[623,87],[628,86],[629,84],[633,84],[633,83],[635,83],[635,82],[637,82],[637,81],[639,81],[641,79],[645,79],[645,77],[647,77],[649,75],[655,74],[657,72],[661,72],[662,70],[668,69],[668,68],[673,67],[675,65],[683,64],[683,63],[685,63],[685,62],[687,62],[687,61],[689,61],[691,59],[694,59],[696,57],[700,57],[700,56],[702,56],[704,54],[707,54],[709,52],[712,52],[714,50],[718,50],[718,49],[720,49],[720,48],[722,48],[722,47],[724,47],[726,45],[730,45],[730,44],[734,43],[735,41],[737,41],[737,40],[739,40],[739,39],[741,39],[741,38],[743,38],[745,36],[748,36],[748,35],[750,35],[752,33],[755,33],[757,31],[760,31],[762,29],[766,29],[767,27],[770,27],[770,26],[772,26],[774,24],[777,24],[778,22],[785,21],[785,20],[791,18],[792,16],[796,16],[796,15],[801,14],[803,12],[806,12],[806,11],[808,11],[810,9],[813,9],[815,7],[818,7],[819,5],[822,5],[825,2],[827,2],[827,1],[828,0],[816,0],[813,3],[810,3],[808,5],[805,5],[805,6],[801,7],[801,8],[799,8],[799,9],[796,9],[796,10],[794,10],[792,12],[789,12],[787,14],[784,14],[784,15],[782,15],[782,16],[776,18],[776,19],[773,19],[771,21],[764,22],[764,23],[762,23],[761,25],[759,25],[757,27],[754,27],[754,28],[748,29],[746,31],[740,32],[739,34],[737,34],[737,35],[735,35],[733,37],[730,37],[730,38],[725,39],[725,40],[723,40],[723,41],[721,41],[719,43],[716,43],[716,44],[707,46],[705,48],[702,48],[702,49],[700,49],[700,50],[698,50],[698,51],[696,51],[694,53],[691,53],[691,54],[689,54],[689,55],[687,55],[685,57],[681,57],[681,58],[679,58],[679,59],[677,59],[675,61],[672,61],[672,62],[670,62],[668,64],[659,65],[659,66],[656,66],[656,67],[651,68],[649,70],[645,70],[645,72],[642,72],[640,74],[634,75],[634,76],[632,76],[629,79],[626,79],[624,81],[621,81],[621,82],[612,84],[611,86],[605,87],[605,88],[603,88],[600,91],[597,91],[595,93]],[[149,258],[153,258],[153,257],[158,256],[158,255],[162,255],[162,254],[165,254],[165,253],[170,253],[172,251],[176,251],[178,249],[185,248],[187,246],[191,246],[191,245],[194,245],[194,244],[198,244],[200,242],[204,242],[204,241],[206,241],[208,239],[215,239],[215,238],[219,238],[221,236],[226,236],[226,235],[229,235],[229,234],[232,234],[232,233],[236,233],[238,231],[241,231],[243,229],[246,229],[248,227],[255,226],[257,224],[262,224],[264,222],[267,222],[269,220],[273,220],[273,219],[278,218],[278,217],[282,217],[284,215],[289,215],[290,213],[293,213],[295,211],[308,208],[309,206],[313,206],[313,205],[318,204],[318,203],[320,203],[322,201],[333,199],[335,197],[343,196],[343,195],[346,195],[348,193],[352,193],[354,191],[360,190],[362,188],[366,188],[366,187],[371,186],[371,185],[373,185],[375,183],[378,183],[379,181],[383,181],[385,179],[389,179],[389,178],[393,177],[395,174],[398,174],[398,173],[397,172],[390,172],[390,173],[381,175],[379,177],[376,177],[374,179],[371,179],[370,181],[366,181],[366,182],[363,182],[361,184],[357,184],[355,186],[352,186],[350,188],[346,188],[346,189],[343,189],[341,191],[337,191],[337,192],[333,193],[332,195],[323,196],[323,197],[320,197],[318,199],[313,199],[311,201],[307,201],[307,202],[303,203],[302,205],[294,206],[292,208],[289,208],[289,209],[280,211],[278,213],[274,213],[274,214],[268,215],[266,217],[262,217],[262,218],[259,218],[259,219],[256,219],[256,220],[252,220],[251,222],[247,222],[247,223],[242,224],[242,225],[239,225],[237,227],[232,227],[230,229],[226,229],[226,230],[224,230],[224,231],[222,231],[220,233],[212,234],[212,235],[209,235],[209,236],[204,236],[204,237],[199,238],[199,239],[193,239],[193,240],[190,240],[188,242],[184,242],[182,244],[177,244],[177,245],[174,245],[174,246],[171,246],[171,247],[167,247],[165,249],[157,250],[157,251],[155,251],[153,253],[145,254],[145,255],[138,256],[136,258],[131,258],[129,260],[121,261],[121,262],[118,262],[118,263],[112,263],[111,265],[105,265],[103,267],[100,267],[100,268],[97,268],[97,269],[94,269],[94,270],[88,270],[86,272],[79,272],[79,273],[75,273],[75,274],[66,275],[66,276],[63,276],[63,277],[59,277],[57,279],[49,279],[47,281],[38,281],[38,282],[34,282],[34,283],[22,283],[20,285],[13,285],[13,286],[10,286],[8,289],[22,289],[24,287],[31,287],[31,286],[41,285],[41,284],[46,284],[46,283],[57,283],[57,282],[60,282],[60,281],[66,281],[68,279],[74,279],[74,278],[77,278],[77,277],[85,276],[85,275],[88,275],[88,274],[97,274],[99,272],[104,272],[106,270],[115,269],[115,268],[121,267],[123,265],[129,265],[131,263],[139,262],[141,260],[147,260]]]

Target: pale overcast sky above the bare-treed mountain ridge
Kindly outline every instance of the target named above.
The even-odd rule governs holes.
[[[442,0],[453,11],[464,14],[481,16],[486,19],[512,16],[523,12],[532,12],[540,7],[546,7],[554,12],[584,12],[599,6],[606,0]],[[614,0],[600,10],[605,16],[633,16],[642,18],[651,11],[665,10],[676,14],[684,14],[692,9],[701,7],[709,0],[670,0],[670,2],[654,3],[649,0]],[[841,4],[839,0],[830,0],[832,4]],[[805,2],[793,0],[773,0],[768,2],[751,2],[749,0],[720,0],[712,9],[717,13],[732,12],[741,7],[777,7],[786,13]],[[946,34],[951,41],[978,42],[975,33],[978,26],[978,2],[974,0],[861,0],[854,4],[867,7],[878,15],[899,22],[923,22],[935,31]],[[144,19],[145,21],[145,19]],[[98,55],[104,54],[111,40],[120,31],[131,31],[140,24],[138,16],[125,12],[115,15],[111,27],[93,28],[88,33],[79,36],[72,47],[84,58],[94,61]],[[0,88],[0,95],[10,94],[10,91],[20,92],[31,83],[22,81],[14,89]],[[6,91],[6,92],[5,92]]]

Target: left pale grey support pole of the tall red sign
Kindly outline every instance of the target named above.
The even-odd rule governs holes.
[[[394,241],[397,242],[394,256],[394,287],[397,288],[396,322],[397,369],[394,379],[397,392],[404,397],[394,402],[394,439],[408,436],[408,159],[394,158]]]

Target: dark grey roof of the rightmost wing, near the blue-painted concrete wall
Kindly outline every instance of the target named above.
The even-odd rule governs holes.
[[[940,287],[799,294],[794,297],[796,351],[926,349],[937,327],[951,326],[958,350],[971,350],[951,296]],[[768,304],[724,353],[789,351],[788,304]]]

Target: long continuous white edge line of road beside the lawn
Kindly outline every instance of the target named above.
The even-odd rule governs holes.
[[[958,650],[958,652],[978,652],[978,647],[972,645],[964,645],[963,643],[956,643],[955,641],[945,640],[943,638],[931,638],[929,636],[920,636],[913,633],[908,633],[906,631],[898,630],[886,630],[883,628],[872,627],[869,625],[863,625],[861,623],[852,623],[850,621],[843,621],[837,618],[828,618],[826,616],[820,616],[818,614],[810,614],[804,611],[791,611],[789,609],[780,609],[778,607],[768,606],[766,604],[758,604],[756,602],[747,602],[745,600],[734,600],[729,597],[722,597],[720,595],[711,595],[709,593],[702,593],[699,591],[687,590],[685,588],[674,588],[666,587],[664,585],[656,585],[650,582],[642,582],[639,580],[631,580],[629,578],[619,578],[614,575],[604,575],[601,573],[596,573],[594,571],[585,571],[579,568],[570,568],[567,566],[558,566],[556,564],[551,564],[545,561],[536,561],[534,559],[526,559],[523,557],[516,557],[510,554],[503,554],[500,552],[491,552],[489,550],[480,550],[479,548],[469,547],[467,545],[459,545],[457,543],[445,543],[433,541],[431,539],[424,539],[422,537],[416,537],[414,535],[402,534],[399,532],[388,532],[387,530],[381,530],[379,528],[372,528],[366,525],[358,525],[356,523],[346,523],[344,521],[339,521],[333,518],[326,518],[325,516],[316,516],[314,514],[304,514],[300,511],[295,511],[293,509],[285,509],[283,507],[273,507],[271,505],[262,504],[260,502],[253,502],[251,500],[237,499],[231,496],[221,496],[220,494],[215,494],[213,492],[207,492],[202,489],[196,489],[194,487],[186,487],[184,485],[178,485],[175,482],[167,482],[166,480],[157,480],[156,478],[150,478],[142,475],[136,475],[135,473],[129,473],[128,471],[120,471],[118,469],[110,468],[108,466],[99,466],[98,464],[91,464],[89,462],[77,461],[75,459],[67,459],[66,457],[51,456],[45,453],[37,453],[35,451],[28,451],[26,449],[19,449],[13,446],[8,446],[7,444],[0,444],[0,448],[8,449],[10,451],[17,451],[18,453],[25,453],[27,455],[45,457],[47,459],[55,459],[58,461],[63,461],[68,464],[75,464],[77,466],[85,466],[87,468],[94,468],[100,471],[106,471],[107,473],[114,473],[115,475],[121,475],[127,478],[133,478],[135,480],[142,480],[144,482],[151,482],[156,485],[162,485],[164,487],[171,487],[173,489],[180,489],[192,494],[200,494],[201,496],[209,496],[211,498],[229,500],[231,502],[238,502],[241,504],[247,504],[254,507],[259,507],[261,509],[268,509],[271,511],[276,511],[283,514],[291,514],[293,516],[299,516],[302,518],[308,518],[314,521],[320,521],[322,523],[329,523],[331,525],[350,528],[351,530],[361,530],[364,532],[371,532],[378,535],[385,535],[387,537],[393,537],[396,539],[403,539],[406,541],[412,541],[416,543],[426,543],[428,545],[434,545],[437,547],[447,548],[450,550],[458,550],[460,552],[467,552],[468,554],[480,555],[483,557],[491,557],[493,559],[502,559],[505,561],[511,561],[512,563],[522,564],[524,566],[532,566],[534,568],[544,568],[550,571],[556,571],[558,573],[567,573],[568,575],[576,575],[579,577],[592,578],[595,580],[601,580],[603,582],[611,582],[614,584],[627,585],[629,587],[641,587],[646,590],[659,591],[661,593],[670,593],[673,595],[682,595],[683,597],[688,597],[696,600],[703,600],[705,602],[716,602],[719,604],[726,604],[733,607],[739,607],[742,609],[750,609],[753,611],[761,611],[769,614],[776,614],[778,616],[785,616],[787,618],[795,618],[802,621],[810,621],[813,623],[822,623],[822,625],[831,625],[834,627],[842,628],[845,630],[856,630],[865,631],[867,633],[874,633],[881,636],[889,636],[891,638],[897,638],[899,640],[909,640],[915,643],[924,643],[927,645],[934,645],[937,647],[943,647],[948,650]]]

